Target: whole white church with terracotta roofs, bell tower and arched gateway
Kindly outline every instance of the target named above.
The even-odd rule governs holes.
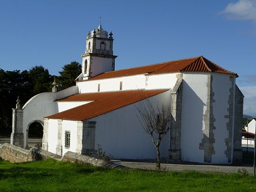
[[[32,122],[44,124],[43,149],[90,154],[102,146],[119,159],[155,159],[135,107],[143,100],[171,108],[161,157],[174,161],[241,161],[243,94],[236,73],[203,56],[115,70],[112,32],[89,32],[76,86],[41,93],[13,109],[12,143],[27,145]],[[44,123],[43,123],[44,122]]]

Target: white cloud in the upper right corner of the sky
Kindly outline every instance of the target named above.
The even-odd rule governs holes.
[[[256,0],[238,0],[228,4],[221,13],[228,19],[251,20],[256,24]]]

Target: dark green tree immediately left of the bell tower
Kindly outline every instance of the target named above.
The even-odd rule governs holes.
[[[63,90],[68,87],[76,85],[75,79],[81,74],[82,66],[79,62],[70,62],[64,65],[62,71],[59,71],[60,76],[57,78],[58,89]]]

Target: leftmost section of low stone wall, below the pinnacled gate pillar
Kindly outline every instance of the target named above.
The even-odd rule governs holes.
[[[9,143],[4,143],[0,148],[0,157],[12,163],[34,161],[31,150],[26,150]]]

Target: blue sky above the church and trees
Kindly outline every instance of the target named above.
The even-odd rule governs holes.
[[[256,116],[256,0],[0,0],[0,68],[82,61],[88,31],[112,31],[116,69],[205,56],[236,72]]]

